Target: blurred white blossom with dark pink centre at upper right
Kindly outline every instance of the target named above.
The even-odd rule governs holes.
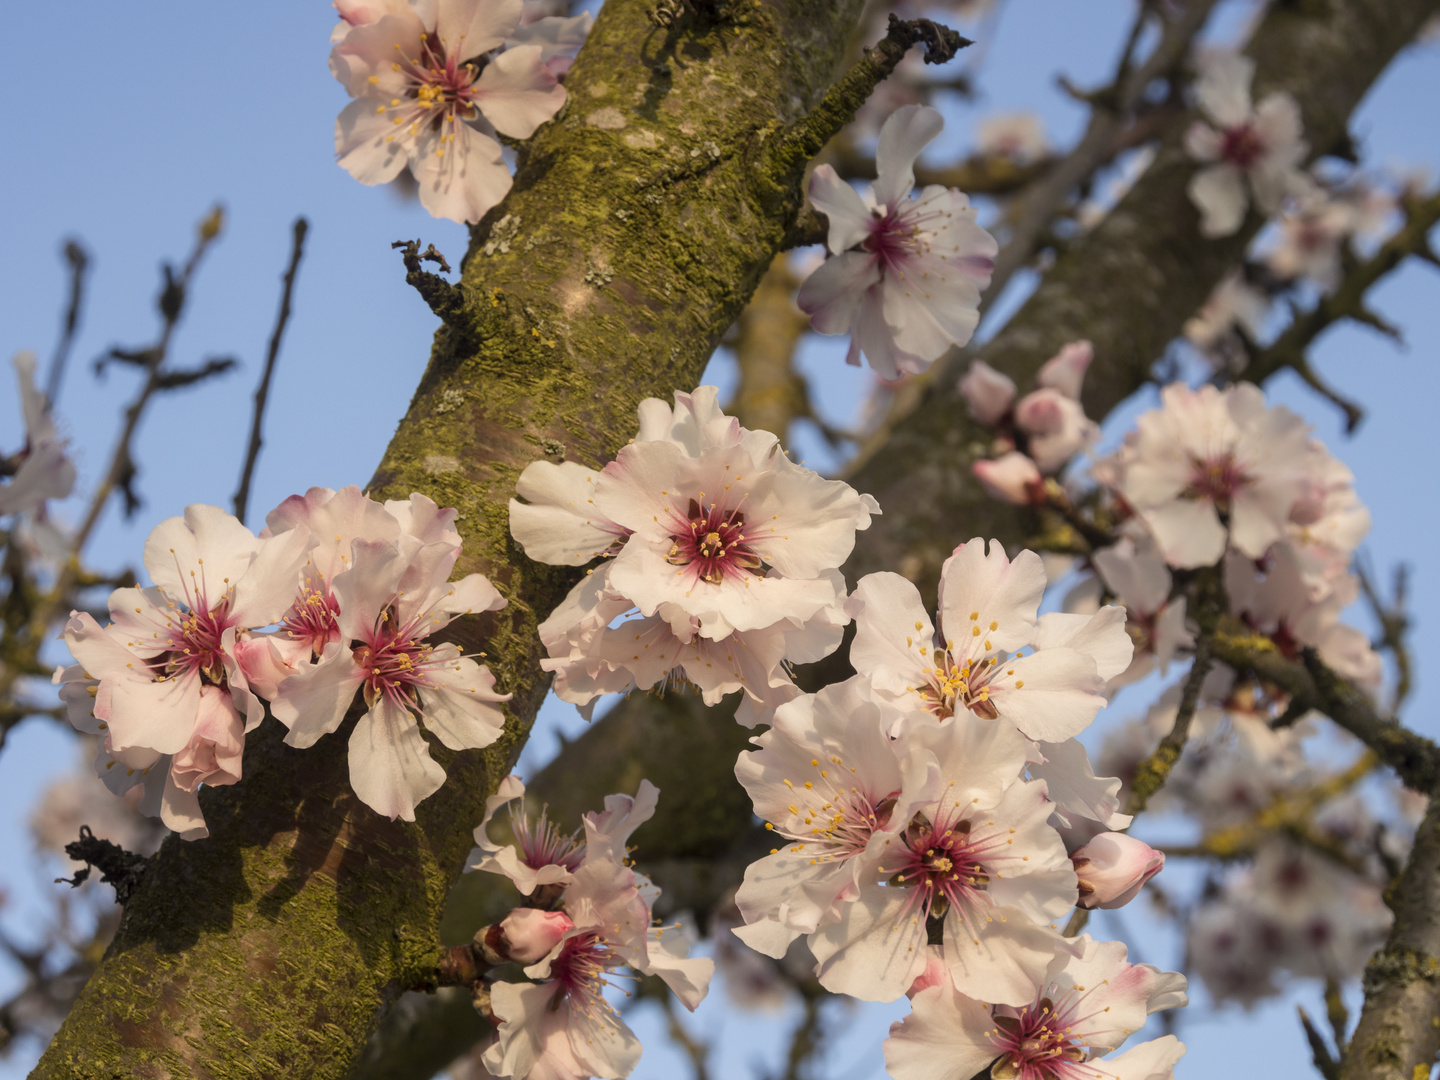
[[[1287,194],[1310,186],[1300,171],[1309,150],[1300,138],[1300,107],[1284,92],[1251,105],[1253,76],[1254,60],[1231,55],[1211,63],[1197,85],[1201,112],[1210,122],[1189,127],[1185,148],[1207,166],[1191,177],[1188,189],[1204,236],[1238,230],[1251,196],[1259,210],[1274,213]]]

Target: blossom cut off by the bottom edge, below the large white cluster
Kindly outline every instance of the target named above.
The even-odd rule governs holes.
[[[1079,939],[1057,952],[1024,1002],[984,1004],[945,984],[922,989],[890,1028],[896,1080],[1169,1080],[1185,1047],[1174,1035],[1115,1051],[1152,1012],[1188,1004],[1185,976],[1128,963],[1120,942]],[[1100,1058],[1104,1057],[1102,1061]]]

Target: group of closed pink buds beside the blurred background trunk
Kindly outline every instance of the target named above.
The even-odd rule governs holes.
[[[1035,373],[1035,389],[1015,400],[1015,382],[984,360],[971,363],[960,396],[972,419],[995,429],[992,458],[972,465],[992,498],[1015,505],[1045,501],[1044,478],[1060,472],[1100,438],[1084,415],[1080,387],[1094,360],[1089,341],[1071,341]]]

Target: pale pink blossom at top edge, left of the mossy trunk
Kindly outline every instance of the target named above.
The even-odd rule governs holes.
[[[436,217],[478,222],[510,190],[495,135],[528,138],[564,104],[547,43],[501,49],[521,0],[344,3],[330,69],[354,98],[336,156],[366,184],[406,166]]]

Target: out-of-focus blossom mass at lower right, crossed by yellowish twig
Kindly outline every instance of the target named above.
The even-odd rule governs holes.
[[[1099,765],[1132,775],[1169,730],[1178,700],[1176,687],[1113,732]],[[1202,851],[1247,860],[1188,910],[1191,966],[1211,998],[1246,1005],[1280,992],[1286,973],[1359,978],[1390,929],[1387,861],[1404,855],[1416,818],[1377,821],[1354,789],[1367,770],[1316,765],[1305,750],[1316,724],[1274,727],[1261,684],[1218,668],[1201,701],[1185,755],[1151,806],[1195,822]]]

